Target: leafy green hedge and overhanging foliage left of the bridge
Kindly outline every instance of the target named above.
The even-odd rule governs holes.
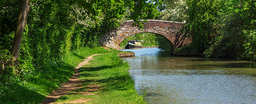
[[[139,19],[154,19],[161,0],[30,0],[20,51],[20,73],[47,70],[70,51],[99,46],[102,34],[120,27],[131,12]],[[10,50],[18,0],[0,2],[0,49]],[[26,67],[27,66],[27,67]]]

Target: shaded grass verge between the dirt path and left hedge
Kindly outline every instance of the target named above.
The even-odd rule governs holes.
[[[0,75],[0,104],[38,104],[47,94],[67,82],[74,74],[74,68],[93,54],[108,53],[109,51],[97,48],[82,48],[71,52],[56,65],[49,64],[37,68],[29,80]],[[54,63],[54,62],[51,62]]]

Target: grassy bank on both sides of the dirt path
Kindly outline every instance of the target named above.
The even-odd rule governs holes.
[[[67,82],[74,74],[74,68],[83,61],[84,58],[98,53],[109,53],[103,56],[96,56],[92,64],[81,68],[81,80],[85,86],[90,83],[97,83],[102,90],[95,92],[92,102],[100,102],[101,99],[108,102],[143,102],[134,89],[134,83],[127,72],[129,65],[120,60],[118,51],[107,51],[103,48],[82,48],[70,53],[59,63],[52,66],[45,66],[36,69],[30,79],[0,76],[0,104],[34,104],[42,102],[47,94],[60,87],[61,83]],[[53,62],[54,63],[54,62]],[[82,95],[69,95],[65,97],[92,97]],[[59,99],[59,102],[64,97]],[[67,100],[70,100],[67,99]],[[112,99],[112,100],[109,100]],[[115,100],[114,100],[115,99]],[[103,101],[102,101],[103,102]],[[107,102],[107,101],[105,101]]]

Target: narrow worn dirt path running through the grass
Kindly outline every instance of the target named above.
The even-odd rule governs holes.
[[[88,61],[92,60],[92,57],[96,56],[96,55],[102,55],[102,54],[95,54],[95,55],[89,56],[87,59],[84,59],[84,62],[77,65],[77,67],[75,68],[76,73],[69,79],[69,81],[67,83],[63,83],[62,87],[59,87],[59,89],[56,89],[54,92],[51,92],[51,94],[49,94],[46,97],[46,99],[44,99],[44,101],[40,104],[53,104],[57,98],[67,94],[69,91],[82,88],[83,87],[82,81],[78,79],[78,77],[80,75],[79,68],[81,68],[83,65],[87,64]],[[100,89],[97,85],[88,85],[88,86],[91,91],[84,92],[85,95],[86,95],[86,93],[94,92],[94,91],[97,91]],[[87,100],[86,100],[86,102],[87,102]]]

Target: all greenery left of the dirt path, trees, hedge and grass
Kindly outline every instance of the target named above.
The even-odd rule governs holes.
[[[138,27],[139,19],[158,17],[162,2],[155,1],[1,0],[0,103],[38,103],[73,75],[81,58],[104,53],[87,47],[100,46],[100,36],[125,17]]]

